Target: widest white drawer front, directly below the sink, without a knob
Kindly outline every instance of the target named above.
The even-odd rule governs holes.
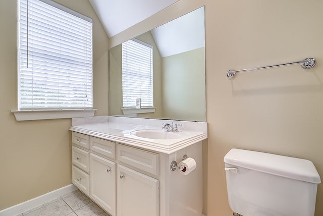
[[[159,174],[159,154],[119,144],[118,159],[142,171]]]

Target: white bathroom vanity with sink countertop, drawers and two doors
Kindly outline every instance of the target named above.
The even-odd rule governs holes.
[[[172,122],[179,132],[161,129]],[[70,130],[73,184],[112,216],[202,215],[205,122],[104,116],[72,119]],[[183,156],[196,161],[191,172],[171,166]]]

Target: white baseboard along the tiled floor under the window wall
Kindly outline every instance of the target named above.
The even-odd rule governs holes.
[[[35,197],[30,200],[27,200],[26,202],[22,202],[17,205],[11,206],[9,208],[3,209],[0,211],[0,216],[17,215],[21,212],[29,210],[43,203],[49,202],[53,199],[60,198],[64,194],[70,193],[75,190],[77,190],[77,187],[75,187],[73,184],[70,184],[68,186],[59,188],[57,190],[51,191],[49,193],[43,194],[41,196]]]

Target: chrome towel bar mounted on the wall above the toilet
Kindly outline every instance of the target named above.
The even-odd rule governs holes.
[[[258,67],[258,68],[249,68],[249,69],[243,69],[243,70],[237,70],[237,71],[230,70],[227,72],[227,77],[233,78],[236,75],[236,73],[245,72],[245,71],[254,71],[254,70],[273,68],[273,67],[279,67],[279,66],[285,66],[285,65],[294,65],[294,64],[301,64],[303,68],[309,69],[316,65],[316,61],[313,58],[306,58],[304,60],[297,61],[297,62],[283,63],[278,65],[270,65],[270,66],[264,66],[264,67]]]

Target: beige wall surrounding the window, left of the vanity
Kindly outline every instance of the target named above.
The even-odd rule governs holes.
[[[58,3],[93,18],[96,115],[108,114],[106,36],[87,0]],[[71,120],[17,122],[17,1],[0,1],[0,210],[72,183]]]

